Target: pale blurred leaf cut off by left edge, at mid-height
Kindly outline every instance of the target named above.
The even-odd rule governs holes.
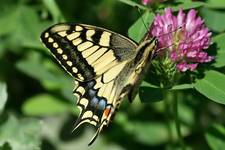
[[[0,82],[0,114],[4,110],[7,98],[8,98],[8,93],[6,91],[6,84],[3,82]]]

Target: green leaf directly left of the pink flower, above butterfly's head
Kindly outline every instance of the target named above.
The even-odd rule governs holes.
[[[149,11],[146,11],[142,18],[144,20],[144,23],[141,18],[139,18],[129,29],[128,29],[128,36],[135,40],[136,42],[140,42],[140,40],[144,37],[145,33],[148,32],[149,29],[146,29],[145,25],[147,27],[150,26],[154,19],[154,14],[150,13]]]

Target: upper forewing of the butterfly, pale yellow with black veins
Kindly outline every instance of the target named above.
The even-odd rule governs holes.
[[[41,35],[75,79],[88,81],[135,56],[136,43],[115,32],[84,24],[57,24]]]

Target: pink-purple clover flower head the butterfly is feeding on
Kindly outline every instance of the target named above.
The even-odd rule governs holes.
[[[204,51],[211,43],[211,33],[194,9],[187,14],[180,10],[175,16],[166,8],[163,15],[156,15],[150,34],[158,37],[160,49],[168,49],[178,71],[194,71],[199,63],[214,58]]]

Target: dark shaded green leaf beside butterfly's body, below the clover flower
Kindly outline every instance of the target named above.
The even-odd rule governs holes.
[[[141,102],[158,102],[163,100],[163,91],[160,88],[140,87],[139,97]]]

